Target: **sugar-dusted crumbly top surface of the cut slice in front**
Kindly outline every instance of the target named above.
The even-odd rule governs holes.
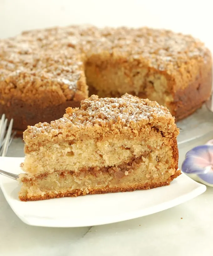
[[[122,127],[128,127],[131,123],[145,120],[151,122],[153,119],[166,117],[173,119],[169,110],[160,106],[155,101],[148,99],[139,99],[129,94],[121,98],[98,98],[92,95],[90,98],[81,101],[81,108],[67,108],[64,117],[49,123],[39,123],[31,126],[31,132],[51,133],[64,128],[82,128],[85,126],[106,126],[106,124],[121,124]]]

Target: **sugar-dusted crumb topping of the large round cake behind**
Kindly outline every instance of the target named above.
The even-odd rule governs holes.
[[[4,81],[10,90],[24,92],[39,80],[37,87],[52,88],[54,83],[65,96],[69,95],[65,91],[76,90],[84,74],[83,63],[93,54],[138,60],[168,73],[190,59],[205,62],[209,54],[199,40],[169,30],[98,29],[87,25],[26,31],[0,40],[0,49],[0,82]]]

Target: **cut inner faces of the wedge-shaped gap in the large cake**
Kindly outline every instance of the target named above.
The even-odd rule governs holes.
[[[143,61],[122,56],[93,54],[85,63],[89,95],[120,97],[125,93],[169,106],[173,101],[174,81],[165,72],[150,68]]]

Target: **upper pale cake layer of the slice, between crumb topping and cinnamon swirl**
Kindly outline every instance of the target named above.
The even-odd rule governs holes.
[[[140,136],[125,137],[120,134],[72,143],[48,143],[27,154],[22,168],[32,174],[51,173],[55,170],[78,172],[85,167],[116,167],[140,155],[148,157],[149,161],[158,158],[167,170],[177,168],[175,139],[168,140],[156,128],[144,129]]]

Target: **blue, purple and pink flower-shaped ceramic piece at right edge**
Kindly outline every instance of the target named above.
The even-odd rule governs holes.
[[[182,172],[195,181],[213,187],[213,139],[186,153]]]

